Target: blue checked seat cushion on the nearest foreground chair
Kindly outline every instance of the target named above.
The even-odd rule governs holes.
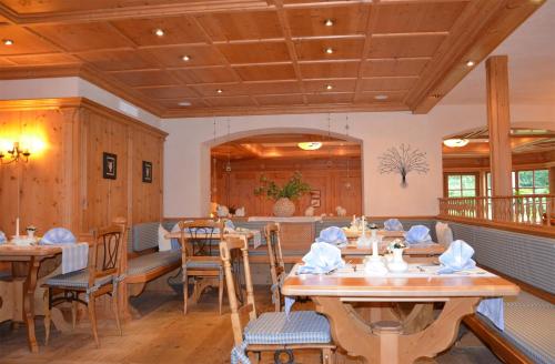
[[[266,312],[244,330],[249,344],[327,344],[331,342],[327,318],[314,311]]]

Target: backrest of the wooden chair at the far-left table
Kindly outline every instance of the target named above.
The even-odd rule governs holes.
[[[89,286],[99,277],[121,275],[122,256],[127,251],[125,223],[100,228],[93,233],[92,257],[89,262]]]

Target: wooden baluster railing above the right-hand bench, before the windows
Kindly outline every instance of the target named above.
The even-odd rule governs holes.
[[[440,216],[555,225],[555,195],[440,199]]]

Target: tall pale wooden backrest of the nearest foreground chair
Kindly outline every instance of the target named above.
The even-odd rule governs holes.
[[[233,277],[233,270],[231,267],[231,257],[233,250],[241,250],[241,256],[243,259],[246,301],[241,307],[239,307],[234,283],[235,280]],[[228,297],[230,300],[233,338],[235,341],[235,345],[240,345],[243,342],[243,327],[246,326],[249,321],[256,318],[251,266],[249,264],[249,241],[245,236],[241,235],[225,236],[225,239],[220,242],[220,256],[222,259],[223,270],[225,272],[225,286],[228,289]],[[249,313],[249,315],[245,316],[245,313]]]

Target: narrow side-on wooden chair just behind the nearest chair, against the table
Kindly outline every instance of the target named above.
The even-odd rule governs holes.
[[[272,277],[272,302],[275,311],[281,311],[282,302],[280,289],[285,279],[285,263],[283,263],[283,253],[281,250],[280,224],[270,223],[264,228],[266,237],[268,259],[270,261],[270,276]]]

